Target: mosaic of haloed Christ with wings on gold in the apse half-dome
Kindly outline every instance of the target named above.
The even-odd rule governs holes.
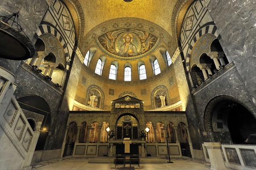
[[[99,36],[98,40],[113,55],[134,57],[150,50],[157,42],[157,37],[136,29],[119,29]]]

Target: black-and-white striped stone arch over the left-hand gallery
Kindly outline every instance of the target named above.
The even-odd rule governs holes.
[[[66,66],[66,72],[67,72],[69,70],[69,66],[70,66],[69,59],[71,58],[71,56],[69,55],[69,52],[67,50],[67,44],[64,41],[64,38],[62,37],[60,32],[58,32],[58,30],[56,30],[52,26],[49,26],[49,25],[46,25],[46,24],[39,25],[38,29],[35,32],[35,35],[32,39],[32,43],[35,44],[38,37],[40,37],[40,35],[42,35],[44,33],[49,33],[49,34],[54,35],[61,42],[61,45],[62,45],[62,47],[64,49],[64,52],[65,52],[65,57],[66,57],[66,62],[67,62],[67,66]]]

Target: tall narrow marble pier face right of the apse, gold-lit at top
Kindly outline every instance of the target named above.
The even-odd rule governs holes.
[[[198,133],[199,127],[198,124],[201,122],[198,120],[198,115],[192,95],[190,95],[188,79],[186,78],[185,70],[183,67],[183,62],[180,55],[177,57],[175,63],[173,63],[175,68],[175,76],[177,79],[180,100],[182,103],[183,109],[186,109],[186,116],[189,126],[190,138],[194,149],[202,150],[201,147],[201,136]],[[201,131],[201,130],[200,130]]]

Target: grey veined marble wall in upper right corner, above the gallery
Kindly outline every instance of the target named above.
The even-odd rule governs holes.
[[[221,46],[231,58],[256,104],[256,1],[210,0],[209,10],[222,39]]]

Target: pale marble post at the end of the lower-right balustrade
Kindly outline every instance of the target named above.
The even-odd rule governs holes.
[[[228,170],[221,154],[221,144],[219,142],[204,142],[204,146],[209,154],[210,170]]]

